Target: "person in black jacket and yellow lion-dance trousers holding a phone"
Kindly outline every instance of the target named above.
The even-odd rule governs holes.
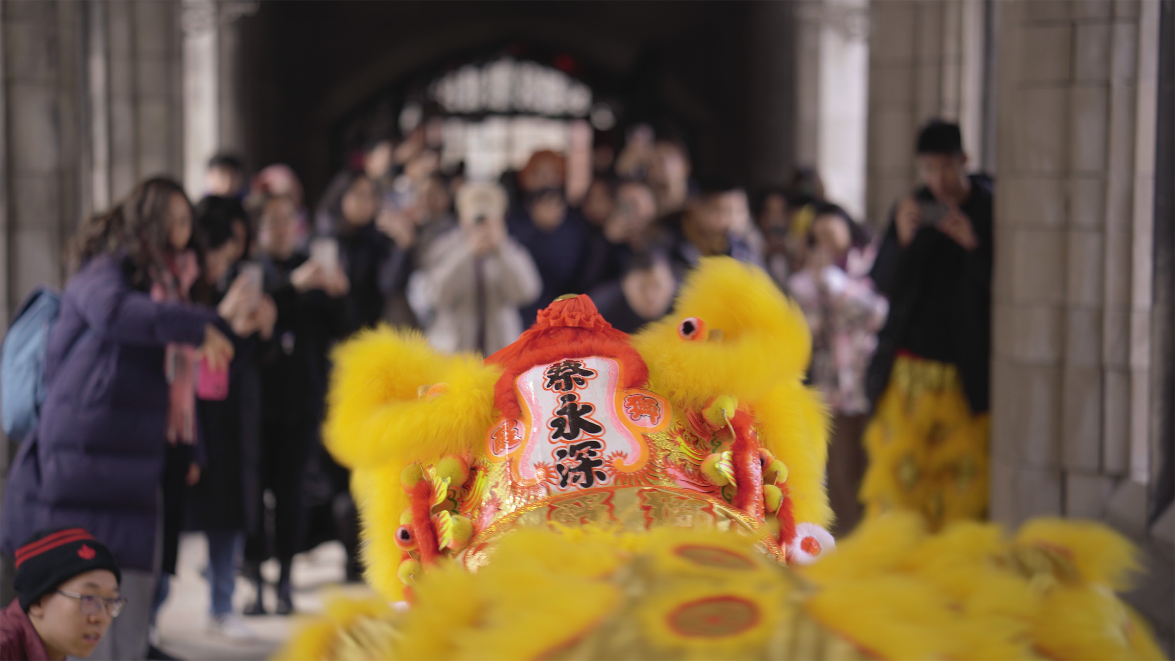
[[[959,127],[918,136],[920,186],[894,208],[871,278],[889,316],[866,378],[866,515],[920,512],[932,529],[987,507],[992,181],[965,171]]]

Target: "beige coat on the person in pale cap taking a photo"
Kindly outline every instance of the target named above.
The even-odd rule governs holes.
[[[482,274],[478,306],[477,271]],[[477,350],[478,311],[483,313],[484,347],[489,355],[518,339],[518,308],[533,302],[542,289],[535,261],[506,236],[498,249],[475,258],[461,229],[438,236],[421,258],[409,283],[412,308],[429,342],[444,352]]]

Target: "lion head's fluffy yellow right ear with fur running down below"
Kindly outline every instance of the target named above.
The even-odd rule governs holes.
[[[720,341],[687,341],[683,319],[696,316]],[[787,465],[797,521],[827,527],[825,489],[828,415],[820,395],[803,385],[812,353],[804,314],[761,269],[730,258],[701,260],[686,279],[673,312],[633,336],[649,365],[650,388],[679,408],[701,409],[731,396],[747,407],[760,442]]]

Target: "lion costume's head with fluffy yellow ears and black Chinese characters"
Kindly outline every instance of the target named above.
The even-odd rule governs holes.
[[[759,272],[707,261],[630,338],[564,296],[478,361],[412,332],[337,354],[328,447],[354,470],[372,585],[398,597],[443,556],[488,561],[521,527],[734,529],[778,560],[833,545],[811,339]]]

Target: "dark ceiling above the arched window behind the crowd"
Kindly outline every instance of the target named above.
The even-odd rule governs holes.
[[[512,47],[582,64],[577,75],[618,99],[623,121],[671,128],[704,174],[781,178],[792,49],[790,11],[780,5],[262,2],[242,20],[246,156],[254,166],[290,163],[313,200],[351,146],[341,127],[372,99]],[[772,89],[763,89],[765,80]],[[770,154],[759,153],[764,138]]]

